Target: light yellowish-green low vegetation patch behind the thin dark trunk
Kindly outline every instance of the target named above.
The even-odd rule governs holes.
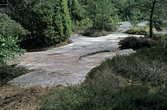
[[[149,35],[149,26],[139,26],[126,30],[127,34]],[[156,29],[153,29],[153,33],[156,33]]]

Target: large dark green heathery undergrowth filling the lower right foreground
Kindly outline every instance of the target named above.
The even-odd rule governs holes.
[[[40,110],[166,110],[167,49],[152,47],[107,59],[83,84],[56,89]]]

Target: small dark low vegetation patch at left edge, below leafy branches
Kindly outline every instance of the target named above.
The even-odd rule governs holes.
[[[27,73],[29,70],[23,67],[1,66],[0,67],[0,86],[7,84],[13,78]]]

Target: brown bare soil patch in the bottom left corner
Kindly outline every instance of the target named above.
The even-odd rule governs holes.
[[[0,110],[35,110],[48,91],[40,86],[21,88],[4,85],[0,87]]]

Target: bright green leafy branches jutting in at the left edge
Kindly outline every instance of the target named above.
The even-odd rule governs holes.
[[[18,38],[15,37],[3,37],[0,35],[0,66],[6,64],[6,60],[11,60],[15,58],[15,55],[24,54],[24,50],[20,49],[17,43]]]

